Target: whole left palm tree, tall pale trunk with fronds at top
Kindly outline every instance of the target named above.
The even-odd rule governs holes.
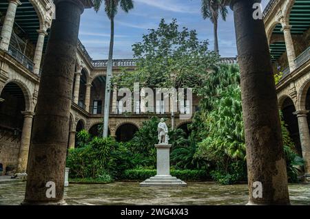
[[[118,5],[124,12],[129,12],[134,8],[134,2],[132,0],[92,0],[94,3],[94,10],[99,12],[103,1],[105,3],[105,13],[111,21],[111,39],[109,58],[107,61],[107,78],[105,82],[105,108],[103,117],[103,137],[107,137],[109,115],[110,115],[110,99],[111,99],[111,78],[113,67],[113,47],[114,47],[114,17],[117,14]]]

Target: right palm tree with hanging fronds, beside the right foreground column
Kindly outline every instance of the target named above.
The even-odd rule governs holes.
[[[203,19],[210,19],[214,25],[214,51],[218,54],[218,14],[222,16],[223,21],[226,21],[228,10],[222,0],[202,0],[201,12]]]

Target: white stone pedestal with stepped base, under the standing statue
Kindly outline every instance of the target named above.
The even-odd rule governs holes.
[[[170,175],[170,148],[171,144],[158,144],[157,148],[157,174],[148,178],[141,186],[187,186],[180,179]]]

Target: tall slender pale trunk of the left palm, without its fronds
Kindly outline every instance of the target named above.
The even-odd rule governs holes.
[[[111,18],[111,39],[109,58],[107,60],[107,78],[105,81],[105,108],[103,117],[103,137],[107,137],[109,130],[109,115],[110,115],[110,99],[111,99],[111,78],[113,68],[113,47],[114,47],[114,17]]]

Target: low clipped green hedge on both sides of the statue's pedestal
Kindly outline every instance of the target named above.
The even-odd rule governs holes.
[[[171,170],[170,174],[184,181],[206,181],[210,179],[205,170]],[[145,181],[147,178],[156,175],[156,170],[136,169],[125,170],[122,175],[124,180]]]

